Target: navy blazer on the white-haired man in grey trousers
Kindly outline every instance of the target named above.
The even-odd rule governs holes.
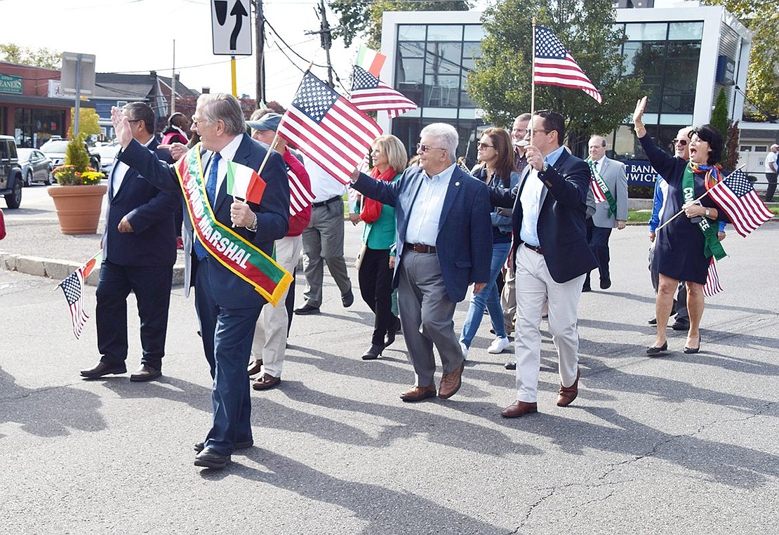
[[[419,193],[425,172],[407,168],[393,182],[382,182],[360,173],[352,184],[355,190],[395,207],[397,219],[397,258],[393,287],[397,288],[400,264],[411,207]],[[439,232],[435,239],[446,295],[457,303],[465,299],[471,282],[488,282],[492,258],[492,222],[487,186],[459,167],[454,168],[449,190],[443,201]]]

